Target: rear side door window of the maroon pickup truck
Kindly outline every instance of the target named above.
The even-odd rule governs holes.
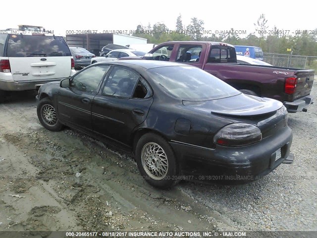
[[[182,45],[177,52],[177,62],[198,62],[203,46]]]

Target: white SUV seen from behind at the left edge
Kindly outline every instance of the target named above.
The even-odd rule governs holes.
[[[0,102],[6,91],[38,89],[76,73],[63,37],[17,32],[0,31]]]

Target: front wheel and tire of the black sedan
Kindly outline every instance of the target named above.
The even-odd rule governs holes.
[[[41,124],[48,130],[60,131],[63,128],[63,124],[59,122],[56,109],[50,99],[43,98],[39,102],[37,114]]]

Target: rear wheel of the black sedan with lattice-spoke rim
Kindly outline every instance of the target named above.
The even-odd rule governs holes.
[[[149,151],[147,153],[147,149],[150,151],[158,149],[157,152],[160,152],[159,157],[155,157],[155,153]],[[146,156],[146,154],[148,156]],[[148,160],[146,160],[146,158],[148,158]],[[155,187],[170,188],[179,181],[179,179],[177,179],[178,163],[174,152],[167,141],[155,133],[145,134],[139,139],[135,148],[135,160],[142,177]],[[148,167],[146,161],[151,161],[147,164]],[[155,168],[156,171],[153,171],[153,168]],[[161,176],[152,174],[151,170],[152,173],[155,174],[161,173]]]

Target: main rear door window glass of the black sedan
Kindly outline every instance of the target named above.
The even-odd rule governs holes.
[[[130,69],[113,67],[102,94],[130,98],[140,75]]]

